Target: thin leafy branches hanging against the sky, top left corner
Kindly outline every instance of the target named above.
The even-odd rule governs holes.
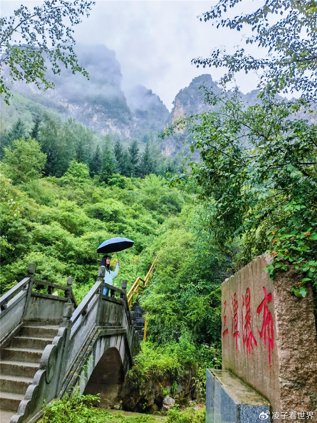
[[[63,64],[73,73],[79,71],[87,77],[72,47],[75,44],[72,27],[81,22],[81,16],[89,15],[92,4],[85,0],[61,0],[56,7],[55,1],[46,0],[42,5],[34,6],[33,10],[21,5],[13,16],[1,16],[0,63],[8,69],[10,79],[13,82],[35,82],[38,88],[44,85],[44,90],[52,88],[54,83],[46,77],[47,62],[52,65],[54,74],[60,73],[60,65]],[[65,25],[67,18],[70,26]],[[52,22],[55,24],[52,25]],[[8,103],[11,93],[3,73],[0,94],[4,94]]]

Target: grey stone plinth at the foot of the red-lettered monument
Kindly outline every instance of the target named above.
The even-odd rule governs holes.
[[[230,372],[206,371],[206,423],[255,423],[270,404]],[[196,407],[196,406],[195,406]]]

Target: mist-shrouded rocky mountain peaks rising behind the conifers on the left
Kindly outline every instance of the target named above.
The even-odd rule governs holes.
[[[63,118],[75,118],[101,135],[118,133],[123,139],[131,139],[164,128],[169,112],[156,94],[141,85],[123,93],[120,63],[114,51],[100,44],[79,44],[77,55],[89,79],[73,74],[71,69],[64,69],[60,75],[48,71],[54,90],[38,91],[34,84],[19,82],[14,86],[14,96],[21,94]],[[8,108],[5,104],[2,107]]]

